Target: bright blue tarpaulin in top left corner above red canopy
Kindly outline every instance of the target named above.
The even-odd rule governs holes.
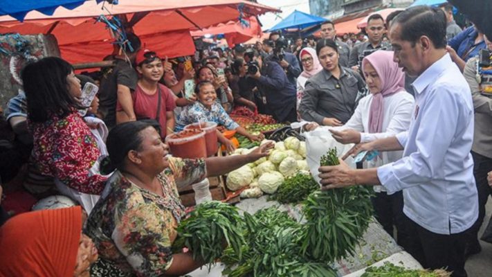
[[[44,15],[53,15],[56,8],[62,6],[73,10],[82,5],[86,0],[1,0],[0,15],[10,15],[19,21],[23,21],[27,13],[37,10]],[[95,0],[98,3],[104,0]],[[113,1],[116,2],[117,1]]]

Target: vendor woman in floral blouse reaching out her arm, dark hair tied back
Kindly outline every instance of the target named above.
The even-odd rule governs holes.
[[[179,159],[154,127],[141,121],[117,125],[107,139],[104,172],[117,170],[95,205],[85,233],[100,258],[137,276],[180,276],[203,265],[192,253],[172,253],[176,226],[185,215],[178,188],[223,175],[266,157],[273,143],[250,154]]]

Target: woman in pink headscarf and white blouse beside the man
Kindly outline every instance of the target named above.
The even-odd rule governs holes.
[[[340,127],[329,128],[339,143],[367,143],[404,132],[410,127],[414,98],[404,89],[405,74],[393,62],[392,51],[376,51],[364,58],[363,73],[370,95],[362,98],[352,117]],[[312,126],[312,125],[311,125]],[[312,129],[312,127],[307,127]],[[376,168],[401,159],[403,151],[383,152],[365,168]],[[403,227],[403,195],[388,195],[382,186],[375,186],[372,199],[376,219],[385,231],[393,235],[397,227],[398,243],[405,247],[406,231]]]

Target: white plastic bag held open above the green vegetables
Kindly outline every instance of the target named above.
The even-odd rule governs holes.
[[[335,141],[331,133],[329,132],[329,127],[318,127],[311,132],[304,132],[302,136],[306,138],[306,159],[307,166],[309,167],[309,172],[313,175],[313,178],[320,184],[320,177],[318,175],[320,172],[320,159],[322,155],[327,154],[330,148],[336,148],[338,152],[338,157],[342,157],[347,151],[354,147],[354,143],[342,144]],[[354,159],[348,157],[345,162],[352,168],[356,168]]]

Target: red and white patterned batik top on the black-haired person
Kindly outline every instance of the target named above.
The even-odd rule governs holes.
[[[98,143],[77,111],[64,118],[52,116],[31,127],[31,158],[42,175],[55,177],[81,193],[100,195],[107,177],[91,170],[100,157]]]

